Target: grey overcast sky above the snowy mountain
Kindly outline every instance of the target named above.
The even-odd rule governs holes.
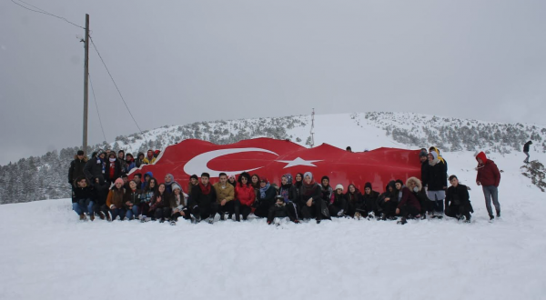
[[[409,111],[545,125],[546,1],[25,0],[85,24],[143,129]],[[0,2],[0,164],[81,145],[84,30]],[[137,131],[96,52],[106,139]],[[104,138],[89,91],[89,144]]]

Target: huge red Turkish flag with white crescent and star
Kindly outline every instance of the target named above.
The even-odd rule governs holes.
[[[289,141],[271,138],[243,140],[230,145],[216,145],[202,140],[188,139],[169,145],[157,157],[154,165],[143,165],[135,172],[152,172],[159,183],[172,174],[187,192],[190,175],[210,174],[217,182],[219,173],[239,175],[248,172],[268,177],[270,183],[280,185],[280,177],[311,172],[315,181],[329,176],[330,185],[357,185],[363,191],[370,182],[373,189],[383,191],[390,180],[406,181],[420,177],[419,150],[379,148],[369,152],[350,153],[332,145],[322,144],[306,148]]]

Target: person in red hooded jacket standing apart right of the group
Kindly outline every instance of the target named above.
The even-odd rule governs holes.
[[[501,183],[501,172],[499,168],[490,159],[487,159],[485,153],[480,152],[476,155],[478,161],[478,175],[476,175],[476,185],[481,185],[483,195],[485,196],[485,206],[490,215],[490,220],[494,219],[493,210],[491,209],[491,198],[493,205],[497,211],[497,217],[501,216],[501,204],[499,204],[499,184]]]

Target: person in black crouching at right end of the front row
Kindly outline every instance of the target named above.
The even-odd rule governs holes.
[[[450,184],[446,192],[446,215],[458,220],[464,216],[465,222],[470,223],[470,213],[474,210],[470,204],[469,189],[466,185],[460,185],[456,175],[450,175]]]

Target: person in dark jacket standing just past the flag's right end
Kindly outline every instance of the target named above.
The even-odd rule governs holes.
[[[432,217],[443,217],[444,203],[446,197],[446,189],[448,188],[447,166],[438,158],[438,153],[432,151],[429,154],[429,166],[427,168],[427,195],[430,203]]]

